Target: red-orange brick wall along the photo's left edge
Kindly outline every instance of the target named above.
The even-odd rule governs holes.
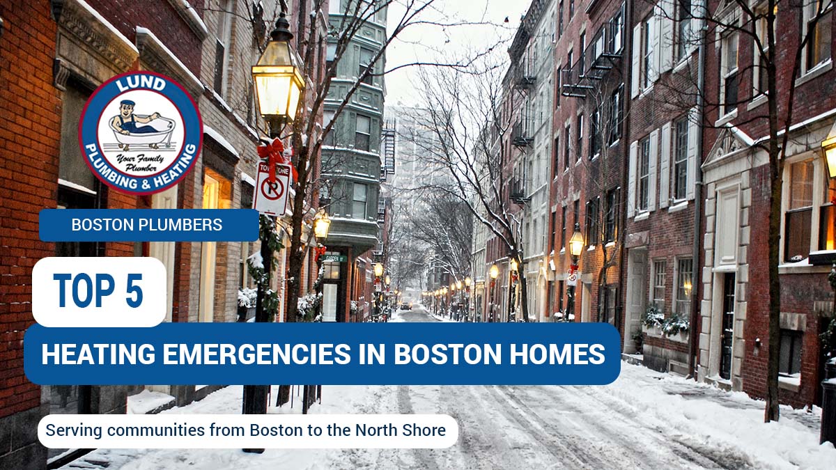
[[[0,417],[41,401],[23,375],[23,333],[33,324],[32,268],[54,254],[38,238],[38,211],[55,207],[61,132],[49,14],[48,2],[0,5]]]

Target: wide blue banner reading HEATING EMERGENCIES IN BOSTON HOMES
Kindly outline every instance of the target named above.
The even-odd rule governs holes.
[[[621,369],[602,323],[166,323],[31,326],[40,385],[605,385]]]

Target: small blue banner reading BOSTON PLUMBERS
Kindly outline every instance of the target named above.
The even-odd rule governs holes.
[[[43,209],[43,242],[252,242],[254,209]]]

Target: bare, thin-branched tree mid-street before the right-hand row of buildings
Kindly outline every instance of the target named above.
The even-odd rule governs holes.
[[[480,61],[469,74],[452,69],[421,74],[427,111],[416,120],[432,139],[415,138],[434,164],[446,168],[449,185],[431,185],[463,204],[502,243],[508,257],[523,265],[523,231],[519,208],[511,202],[507,181],[509,116],[503,112],[503,67]],[[507,110],[507,108],[505,108]],[[519,271],[523,319],[528,321],[528,289]]]

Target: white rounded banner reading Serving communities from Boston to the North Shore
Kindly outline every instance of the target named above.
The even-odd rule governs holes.
[[[451,447],[449,415],[48,415],[49,448],[423,448]]]

